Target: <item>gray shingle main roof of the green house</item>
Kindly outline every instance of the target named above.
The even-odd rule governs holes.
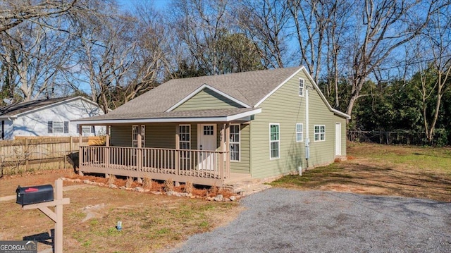
[[[206,84],[254,106],[301,67],[173,79],[108,113],[111,116],[163,112]],[[97,118],[96,118],[97,119]]]

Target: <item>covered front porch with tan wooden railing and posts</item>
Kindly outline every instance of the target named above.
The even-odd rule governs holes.
[[[232,173],[230,170],[230,125],[249,124],[250,118],[221,119],[226,121],[203,117],[198,121],[194,118],[190,121],[177,118],[173,122],[166,119],[163,123],[149,119],[131,123],[106,122],[108,124],[103,124],[107,126],[105,146],[80,145],[79,173],[101,173],[106,177],[121,175],[138,180],[171,179],[180,183],[218,187],[240,178],[249,179],[250,171]],[[93,123],[100,125],[100,122],[94,121],[80,122],[79,132],[82,132],[82,125]],[[111,139],[114,140],[111,133],[118,135],[119,132],[112,129],[119,128],[133,129],[129,144],[116,141],[111,145]],[[157,139],[155,134],[150,133],[152,128],[165,129],[158,137],[163,139],[159,143],[152,140]],[[130,136],[130,132],[123,132],[121,135]]]

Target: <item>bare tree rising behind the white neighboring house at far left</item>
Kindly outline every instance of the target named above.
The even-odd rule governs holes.
[[[1,62],[12,70],[23,100],[36,99],[65,71],[70,57],[71,37],[45,27],[27,23],[0,36]],[[10,73],[11,74],[11,73]],[[11,78],[11,75],[10,75]]]

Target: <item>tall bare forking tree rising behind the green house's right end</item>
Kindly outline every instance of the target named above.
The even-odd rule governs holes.
[[[347,114],[362,96],[360,92],[369,75],[381,67],[392,56],[393,51],[420,34],[430,16],[441,8],[441,1],[366,0],[357,6],[362,12],[357,15],[353,28],[355,35],[346,54],[350,56],[350,82],[352,91],[347,103]],[[420,11],[421,10],[421,11]],[[413,15],[420,13],[420,15]]]

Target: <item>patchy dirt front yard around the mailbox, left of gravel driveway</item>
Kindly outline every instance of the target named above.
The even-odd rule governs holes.
[[[0,197],[15,195],[18,185],[53,185],[60,177],[79,178],[63,170],[4,176],[0,179]],[[82,179],[106,180],[92,176]],[[63,181],[65,187],[76,184]],[[115,184],[120,187],[125,180],[117,179]],[[237,202],[209,202],[202,198],[78,185],[76,190],[63,192],[64,197],[70,198],[70,204],[64,206],[64,252],[163,252],[190,235],[228,223],[241,210]],[[208,193],[197,190],[199,195]],[[35,237],[41,241],[39,252],[51,249],[49,235],[54,223],[47,216],[37,209],[21,210],[15,199],[0,202],[0,206],[4,211],[0,240]],[[123,222],[122,231],[116,230],[117,221]]]

